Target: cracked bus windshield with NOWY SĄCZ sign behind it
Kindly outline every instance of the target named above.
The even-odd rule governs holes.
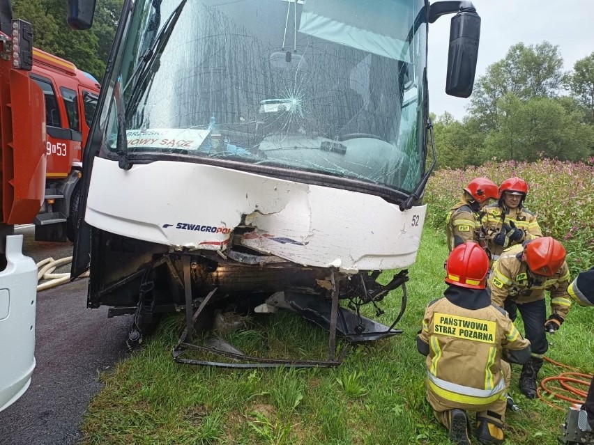
[[[422,175],[424,3],[137,2],[114,89],[127,151],[229,159],[410,192]]]

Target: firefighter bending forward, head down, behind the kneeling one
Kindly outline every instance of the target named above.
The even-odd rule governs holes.
[[[536,397],[536,377],[549,348],[546,331],[552,334],[559,329],[570,310],[569,284],[565,248],[551,237],[508,247],[493,265],[489,277],[491,300],[508,311],[512,320],[519,311],[532,346],[532,357],[522,366],[519,378],[519,387],[527,398]],[[548,318],[545,290],[551,297]]]

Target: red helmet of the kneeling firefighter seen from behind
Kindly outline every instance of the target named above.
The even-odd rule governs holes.
[[[466,241],[455,247],[446,263],[446,283],[463,288],[485,289],[489,258],[475,242]]]

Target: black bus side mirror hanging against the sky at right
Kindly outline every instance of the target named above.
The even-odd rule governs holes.
[[[474,8],[462,9],[452,17],[446,94],[464,98],[471,95],[479,39],[480,17]]]

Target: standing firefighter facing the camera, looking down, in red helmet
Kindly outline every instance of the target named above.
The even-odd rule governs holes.
[[[524,207],[528,184],[520,178],[508,178],[499,186],[499,200],[485,207],[482,219],[491,261],[507,247],[542,237],[536,215]]]

